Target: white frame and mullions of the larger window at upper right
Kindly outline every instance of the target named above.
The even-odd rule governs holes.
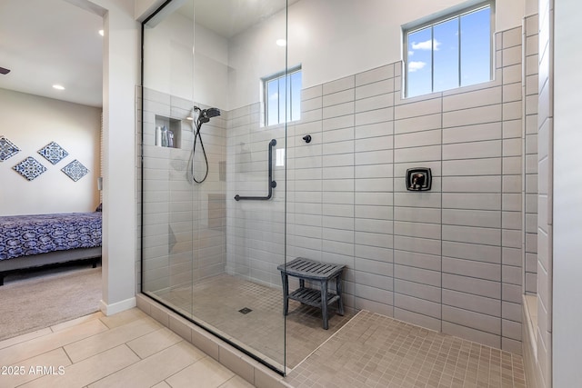
[[[490,36],[489,36],[489,81],[494,79],[495,75],[495,0],[487,0],[487,1],[479,1],[479,2],[472,2],[472,5],[457,7],[453,10],[447,10],[446,13],[431,17],[429,20],[422,19],[417,22],[413,22],[407,25],[402,26],[402,35],[403,35],[403,58],[404,58],[404,75],[403,75],[403,90],[405,91],[405,98],[412,98],[416,97],[417,95],[413,95],[411,97],[408,96],[408,35],[415,33],[416,31],[425,29],[426,27],[433,27],[434,25],[441,24],[448,20],[460,18],[463,15],[467,15],[473,12],[476,12],[480,9],[489,7],[490,9]],[[456,88],[464,87],[461,86],[460,82],[460,75],[461,75],[461,45],[460,45],[460,31],[459,31],[459,54],[458,54],[458,73],[459,73],[459,83]],[[432,39],[434,43],[434,39]],[[434,47],[431,49],[434,52]],[[435,66],[434,66],[434,55],[431,55],[433,63],[431,63],[431,92],[430,93],[437,93],[435,92]],[[456,89],[454,88],[454,89]],[[450,90],[450,89],[449,89]]]

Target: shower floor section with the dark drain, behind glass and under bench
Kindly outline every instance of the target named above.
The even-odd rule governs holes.
[[[192,314],[197,323],[262,354],[266,361],[282,367],[286,357],[287,368],[296,367],[354,316],[349,311],[340,316],[330,308],[329,328],[324,330],[320,309],[289,301],[285,322],[281,290],[227,274],[158,296],[186,316]]]

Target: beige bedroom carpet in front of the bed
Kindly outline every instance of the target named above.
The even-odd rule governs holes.
[[[6,276],[0,286],[0,341],[99,310],[101,267]]]

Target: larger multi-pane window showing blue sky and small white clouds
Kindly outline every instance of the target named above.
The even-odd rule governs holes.
[[[406,96],[492,79],[492,3],[404,30]]]

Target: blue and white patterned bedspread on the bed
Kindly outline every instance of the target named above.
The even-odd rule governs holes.
[[[101,245],[101,212],[0,217],[0,260]]]

